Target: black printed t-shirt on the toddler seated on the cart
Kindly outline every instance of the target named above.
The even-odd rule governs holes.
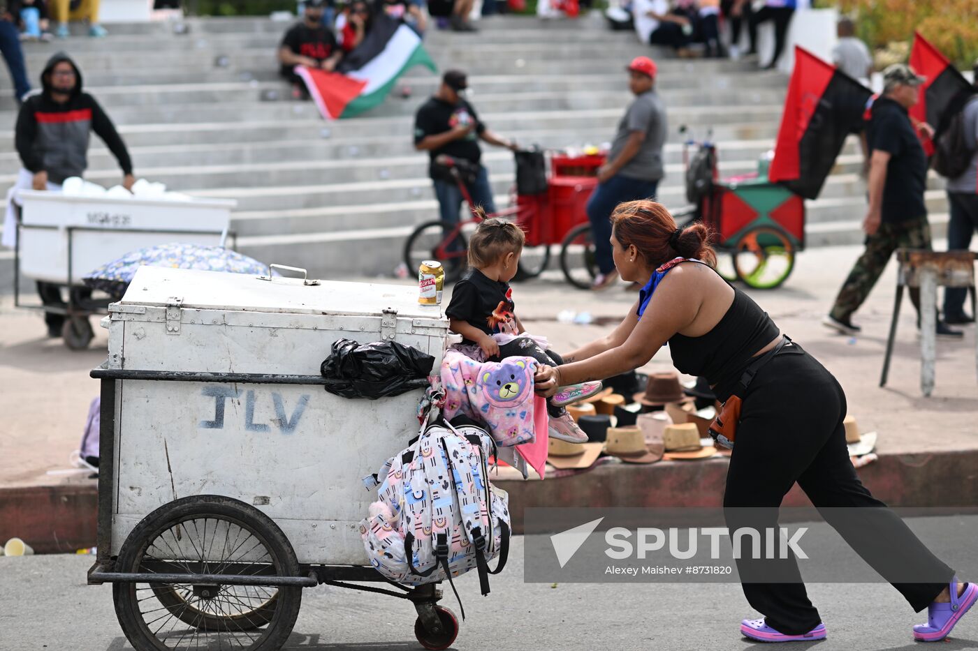
[[[515,331],[514,310],[509,282],[493,281],[478,269],[471,269],[455,283],[445,314],[486,334],[495,334]],[[468,339],[466,342],[474,343]]]

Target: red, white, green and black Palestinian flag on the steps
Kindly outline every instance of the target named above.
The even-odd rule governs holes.
[[[296,65],[323,117],[351,117],[382,103],[397,78],[413,65],[437,68],[408,25],[386,15],[374,17],[371,30],[334,72]]]

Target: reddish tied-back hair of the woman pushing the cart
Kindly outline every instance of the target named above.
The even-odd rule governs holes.
[[[635,245],[645,263],[655,269],[673,258],[696,258],[716,267],[717,256],[710,246],[712,234],[695,222],[684,227],[670,243],[679,228],[676,220],[661,203],[649,199],[619,203],[611,213],[611,227],[618,242]]]

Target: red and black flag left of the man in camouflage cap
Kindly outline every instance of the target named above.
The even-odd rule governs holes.
[[[816,198],[846,136],[862,130],[870,95],[866,86],[834,65],[795,46],[768,178],[796,195]]]

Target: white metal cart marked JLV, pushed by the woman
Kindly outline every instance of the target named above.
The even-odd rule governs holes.
[[[434,585],[383,582],[359,523],[362,478],[418,432],[421,390],[350,400],[320,365],[340,337],[440,364],[448,321],[405,285],[141,268],[111,304],[102,380],[98,556],[137,651],[279,649],[302,587],[414,602],[425,648],[458,622]]]

